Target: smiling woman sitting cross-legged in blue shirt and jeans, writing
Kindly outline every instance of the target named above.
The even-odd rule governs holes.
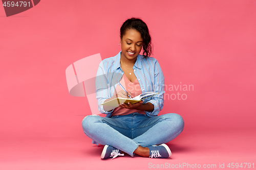
[[[99,111],[107,115],[85,117],[83,131],[94,140],[93,143],[105,145],[102,159],[113,159],[124,153],[168,158],[172,153],[164,143],[182,132],[184,121],[175,113],[158,116],[164,103],[164,76],[158,61],[150,57],[151,36],[146,24],[138,18],[127,19],[120,29],[120,44],[121,52],[103,60],[97,72]],[[140,55],[142,48],[143,55]],[[116,97],[129,98],[117,82],[132,98],[147,91],[158,94],[135,104],[103,107],[102,103]]]

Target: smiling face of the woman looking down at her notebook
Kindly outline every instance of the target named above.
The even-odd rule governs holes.
[[[121,58],[136,61],[143,45],[140,32],[131,29],[127,30],[121,39]]]

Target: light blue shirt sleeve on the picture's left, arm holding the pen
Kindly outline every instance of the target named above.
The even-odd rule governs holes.
[[[111,98],[110,86],[107,79],[106,70],[104,69],[103,61],[101,61],[101,63],[99,64],[95,84],[96,84],[96,99],[98,101],[98,109],[100,113],[104,113],[104,114],[112,113],[114,109],[112,111],[105,111],[103,109],[103,106],[101,105],[102,103],[104,103],[106,99]]]

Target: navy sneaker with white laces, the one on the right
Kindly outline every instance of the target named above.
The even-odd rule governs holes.
[[[166,144],[153,145],[147,148],[150,149],[150,158],[168,158],[172,156],[172,152]]]

